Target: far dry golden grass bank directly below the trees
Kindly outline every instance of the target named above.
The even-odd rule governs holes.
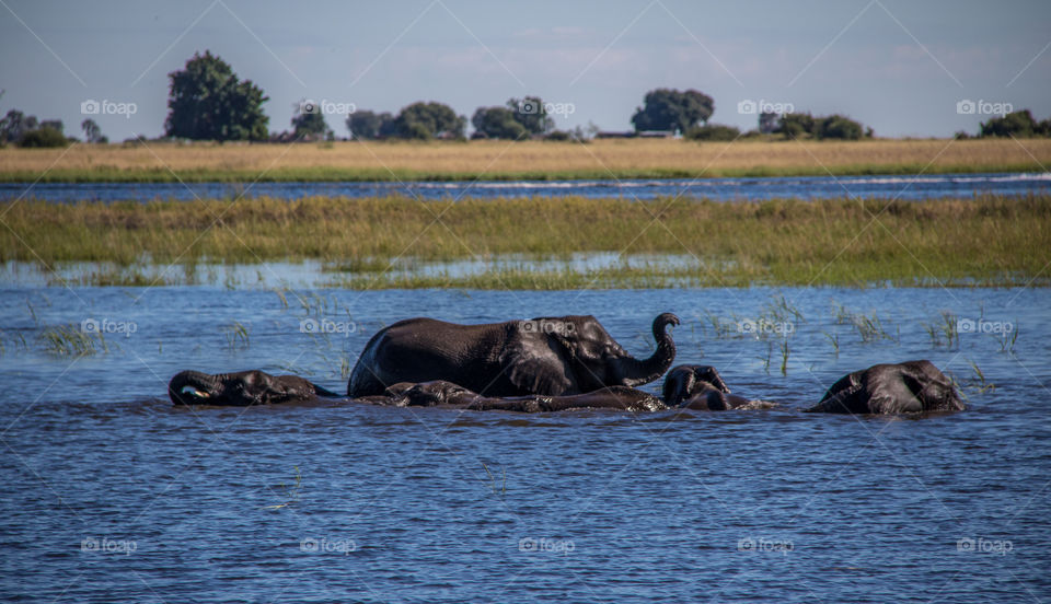
[[[0,149],[0,182],[692,178],[1037,172],[1051,140],[600,140]]]

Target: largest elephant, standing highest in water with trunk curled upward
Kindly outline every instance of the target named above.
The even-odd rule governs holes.
[[[675,358],[669,325],[679,325],[679,317],[663,313],[654,320],[657,349],[636,359],[590,315],[482,325],[409,318],[372,336],[350,373],[347,396],[435,380],[500,397],[639,386],[660,378]]]

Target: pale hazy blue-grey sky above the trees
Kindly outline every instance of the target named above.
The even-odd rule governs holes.
[[[668,86],[709,94],[712,121],[742,129],[755,116],[738,103],[752,100],[945,137],[988,119],[959,114],[962,100],[1051,115],[1049,46],[1046,0],[0,0],[0,111],[79,136],[82,102],[134,103],[91,117],[113,140],[158,136],[168,73],[210,49],[269,95],[272,131],[301,98],[390,112],[432,100],[470,118],[526,94],[571,104],[558,127],[624,130],[646,91]]]

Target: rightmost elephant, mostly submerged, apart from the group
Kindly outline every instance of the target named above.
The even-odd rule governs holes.
[[[828,414],[919,414],[963,410],[952,381],[931,361],[876,364],[841,378],[805,409]]]

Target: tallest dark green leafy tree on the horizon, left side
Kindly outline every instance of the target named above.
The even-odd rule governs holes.
[[[195,54],[171,78],[168,119],[170,137],[194,140],[266,140],[269,97],[251,80],[240,81],[230,65],[206,50]]]

